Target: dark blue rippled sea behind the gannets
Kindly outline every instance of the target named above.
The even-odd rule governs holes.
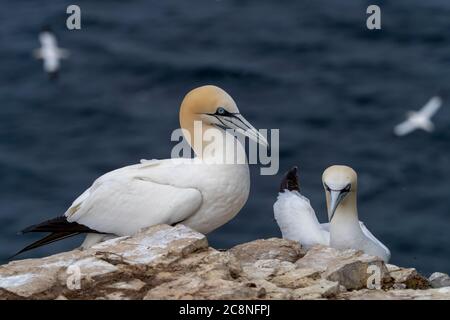
[[[292,165],[325,221],[322,171],[347,164],[391,262],[450,272],[450,98],[432,134],[393,134],[450,87],[450,2],[79,0],[82,29],[69,31],[72,3],[1,1],[0,262],[39,237],[17,231],[61,215],[98,176],[169,157],[183,96],[215,84],[255,127],[280,129],[280,172],[252,166],[250,198],[214,247],[280,236],[272,205]],[[381,30],[366,28],[370,4]],[[71,51],[57,81],[31,54],[44,24]]]

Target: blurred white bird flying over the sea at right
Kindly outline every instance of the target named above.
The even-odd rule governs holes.
[[[432,132],[434,124],[431,122],[431,117],[441,106],[442,99],[440,97],[435,96],[431,98],[419,111],[409,111],[407,120],[395,126],[394,133],[398,136],[404,136],[416,129]]]

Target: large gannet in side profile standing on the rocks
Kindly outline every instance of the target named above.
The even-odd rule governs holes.
[[[104,174],[63,216],[23,230],[50,235],[19,253],[79,233],[88,234],[82,244],[88,248],[106,237],[132,235],[156,224],[182,223],[206,234],[231,220],[247,201],[250,174],[244,146],[227,129],[267,147],[265,137],[240,114],[231,96],[216,86],[189,92],[179,118],[195,158],[141,161]],[[200,132],[195,131],[198,123]],[[235,144],[236,149],[223,148],[222,143],[211,149],[211,141],[203,139],[206,133],[222,138],[227,146]],[[244,159],[224,162],[224,156],[234,151]]]

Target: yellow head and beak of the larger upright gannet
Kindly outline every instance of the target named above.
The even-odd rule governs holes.
[[[194,122],[201,121],[206,130],[234,129],[250,139],[267,146],[267,140],[240,114],[233,98],[219,87],[208,85],[190,91],[180,109],[180,126],[194,132]]]

